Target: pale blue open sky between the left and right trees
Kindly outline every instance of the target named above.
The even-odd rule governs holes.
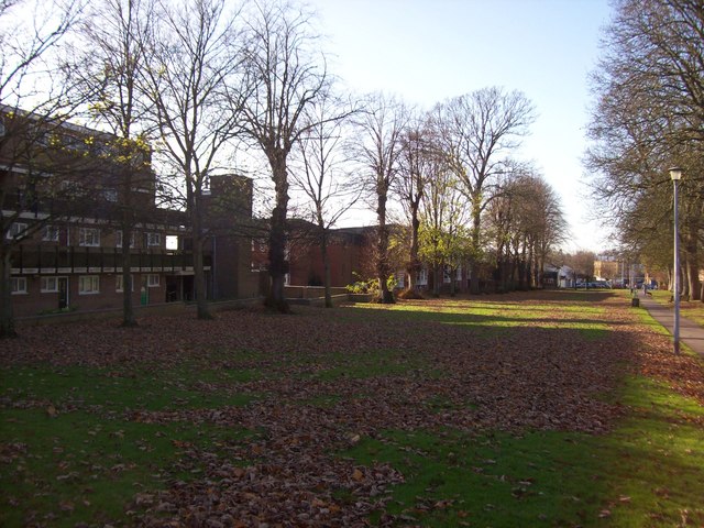
[[[566,251],[601,252],[607,230],[593,207],[582,157],[608,0],[308,0],[329,69],[355,92],[382,90],[431,108],[501,86],[522,91],[538,119],[518,157],[531,161],[561,198]],[[344,223],[369,224],[356,212]]]

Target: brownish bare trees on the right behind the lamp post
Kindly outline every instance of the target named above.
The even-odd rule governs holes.
[[[619,0],[594,75],[597,103],[587,165],[603,218],[624,257],[681,274],[703,299],[704,10],[698,0]],[[673,199],[681,166],[681,270],[672,270]],[[672,284],[672,280],[671,280]]]

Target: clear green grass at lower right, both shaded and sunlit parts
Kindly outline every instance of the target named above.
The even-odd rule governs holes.
[[[343,455],[405,475],[398,526],[701,526],[704,409],[641,377],[618,397],[634,413],[604,436],[385,431]]]

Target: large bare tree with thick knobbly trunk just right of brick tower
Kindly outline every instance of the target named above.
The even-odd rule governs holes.
[[[275,204],[268,237],[271,288],[266,305],[286,312],[288,155],[316,124],[304,123],[304,113],[326,94],[328,74],[316,47],[309,13],[288,3],[256,2],[248,26],[250,91],[242,107],[242,131],[262,150],[272,170]]]

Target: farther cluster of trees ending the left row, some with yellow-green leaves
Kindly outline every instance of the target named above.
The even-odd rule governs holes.
[[[376,275],[381,300],[392,300],[387,211],[400,205],[408,226],[405,252],[410,293],[421,262],[452,276],[469,266],[471,289],[488,263],[499,289],[537,286],[548,254],[565,235],[554,191],[515,158],[535,119],[518,91],[492,87],[436,105],[408,109],[377,96],[356,121],[353,160],[375,199]],[[392,217],[393,218],[393,217]],[[437,293],[437,292],[436,292]]]

